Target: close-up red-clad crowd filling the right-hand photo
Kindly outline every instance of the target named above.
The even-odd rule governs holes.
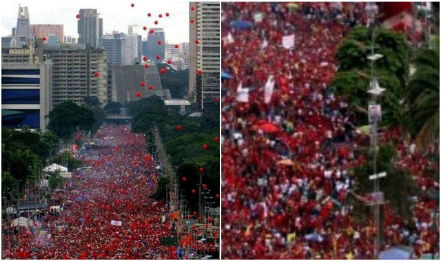
[[[350,170],[368,163],[360,148],[369,136],[329,88],[338,44],[351,27],[368,23],[369,12],[365,3],[222,3],[221,67],[229,75],[222,82],[223,258],[374,258],[372,218],[358,220],[347,201],[362,198],[353,196]],[[293,34],[287,48],[283,38]],[[385,131],[381,139],[394,135]],[[438,181],[422,177],[427,151],[412,146],[398,142],[397,165],[439,191]],[[439,253],[439,225],[430,230],[434,207],[418,194],[406,221],[385,205],[381,249],[411,246],[416,258]]]

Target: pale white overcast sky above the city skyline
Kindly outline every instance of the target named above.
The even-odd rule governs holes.
[[[6,0],[1,3],[1,36],[11,34],[12,27],[17,25],[19,4],[28,6],[31,24],[63,24],[64,35],[78,37],[76,32],[76,14],[80,8],[95,8],[103,18],[104,33],[112,30],[127,33],[129,25],[148,27],[162,27],[165,31],[165,40],[169,43],[188,42],[189,35],[189,4],[188,1],[36,1],[36,0]],[[130,4],[134,3],[134,8]],[[152,16],[148,17],[150,12]],[[170,16],[166,17],[165,13]],[[158,14],[163,14],[162,18]],[[154,21],[158,25],[154,25]],[[147,37],[147,31],[143,38]]]

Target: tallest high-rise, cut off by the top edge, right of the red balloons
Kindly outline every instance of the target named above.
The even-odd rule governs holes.
[[[220,94],[220,3],[190,2],[189,97],[203,109],[204,102],[214,102]],[[191,10],[194,7],[195,10]],[[197,71],[202,70],[200,77]],[[200,82],[198,82],[200,80]]]

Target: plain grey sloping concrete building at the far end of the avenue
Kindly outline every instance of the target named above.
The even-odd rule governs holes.
[[[151,95],[171,99],[170,90],[163,89],[156,65],[150,64],[148,69],[142,65],[112,65],[109,71],[113,102],[131,102]],[[145,82],[144,87],[139,85],[141,81]],[[152,90],[148,89],[149,85],[153,86]],[[140,98],[136,97],[136,92],[141,93]]]

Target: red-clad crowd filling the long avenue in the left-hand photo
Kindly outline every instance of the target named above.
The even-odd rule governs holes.
[[[161,246],[172,235],[170,209],[150,196],[157,186],[156,162],[146,151],[143,135],[130,126],[102,126],[99,148],[82,153],[83,168],[65,181],[52,198],[61,213],[46,214],[22,227],[19,235],[3,238],[8,259],[176,259],[189,258],[188,248]],[[40,233],[47,231],[46,233]],[[15,240],[12,240],[14,238]],[[9,245],[12,242],[12,245]],[[214,251],[213,242],[188,238],[199,253]]]

